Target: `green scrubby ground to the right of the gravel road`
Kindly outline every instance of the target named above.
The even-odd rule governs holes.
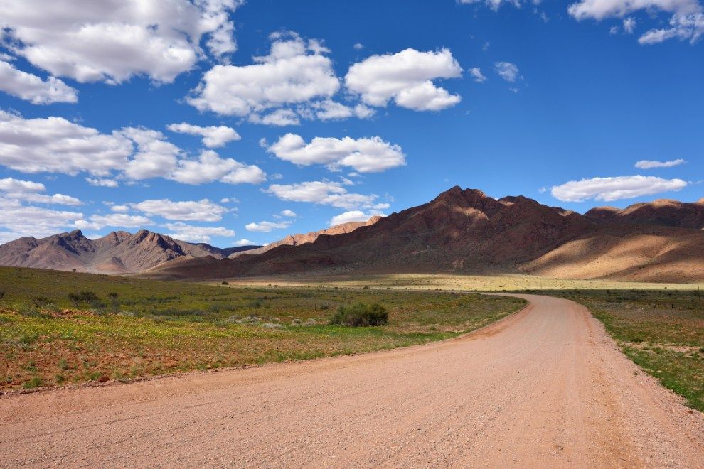
[[[698,291],[541,292],[590,308],[621,350],[664,387],[704,411],[704,296]]]

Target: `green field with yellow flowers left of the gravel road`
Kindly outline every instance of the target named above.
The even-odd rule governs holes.
[[[0,388],[402,347],[474,330],[525,304],[451,292],[227,287],[2,267]],[[75,306],[69,295],[80,291],[95,298]],[[328,324],[338,306],[357,302],[387,308],[389,324]]]

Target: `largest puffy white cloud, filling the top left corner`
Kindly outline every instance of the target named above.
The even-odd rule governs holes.
[[[38,68],[79,82],[147,75],[171,82],[203,57],[235,50],[240,0],[4,1],[4,43]]]

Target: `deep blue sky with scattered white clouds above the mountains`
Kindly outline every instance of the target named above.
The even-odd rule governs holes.
[[[0,242],[704,195],[695,0],[3,3]]]

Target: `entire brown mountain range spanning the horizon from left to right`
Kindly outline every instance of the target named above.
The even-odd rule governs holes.
[[[704,199],[655,200],[584,215],[530,198],[454,187],[368,222],[220,249],[140,230],[80,231],[0,246],[0,264],[164,279],[325,273],[524,273],[560,278],[704,279]]]

